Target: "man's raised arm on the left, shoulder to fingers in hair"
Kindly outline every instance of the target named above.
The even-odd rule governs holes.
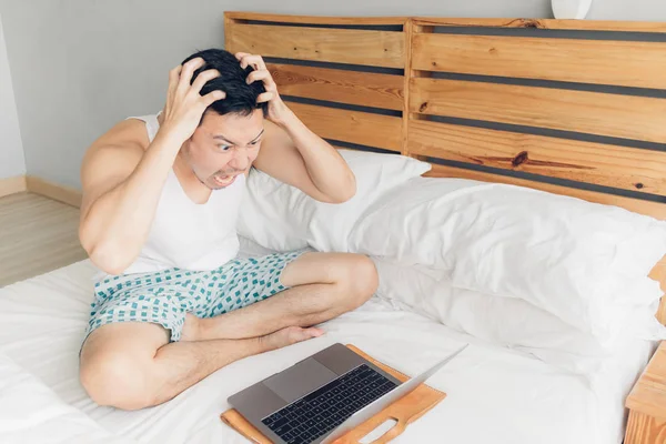
[[[152,143],[141,123],[127,121],[85,154],[79,238],[91,261],[108,273],[122,273],[141,252],[179,150],[205,109],[224,98],[222,91],[199,93],[216,71],[202,72],[190,85],[201,65],[202,59],[193,59],[170,72],[162,124]]]

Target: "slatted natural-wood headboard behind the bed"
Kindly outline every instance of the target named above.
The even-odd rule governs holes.
[[[336,147],[666,220],[666,23],[228,12],[224,36]]]

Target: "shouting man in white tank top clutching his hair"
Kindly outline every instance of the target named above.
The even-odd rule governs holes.
[[[251,167],[322,202],[355,193],[344,160],[285,105],[262,58],[222,50],[170,72],[159,115],[128,119],[89,149],[80,239],[102,275],[80,377],[98,404],[163,403],[233,361],[321,335],[312,325],[374,293],[362,255],[235,259]]]

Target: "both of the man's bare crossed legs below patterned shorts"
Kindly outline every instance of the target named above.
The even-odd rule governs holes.
[[[233,361],[320,335],[319,329],[299,326],[353,310],[377,285],[374,264],[355,254],[306,253],[284,269],[281,281],[292,287],[211,319],[205,330],[199,324],[209,320],[189,317],[181,342],[169,343],[169,331],[157,323],[95,329],[81,352],[84,389],[97,403],[124,410],[163,403]],[[194,341],[188,329],[212,335]]]

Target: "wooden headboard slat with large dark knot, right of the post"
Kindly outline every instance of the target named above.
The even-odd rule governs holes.
[[[412,120],[410,153],[666,195],[666,152]]]

